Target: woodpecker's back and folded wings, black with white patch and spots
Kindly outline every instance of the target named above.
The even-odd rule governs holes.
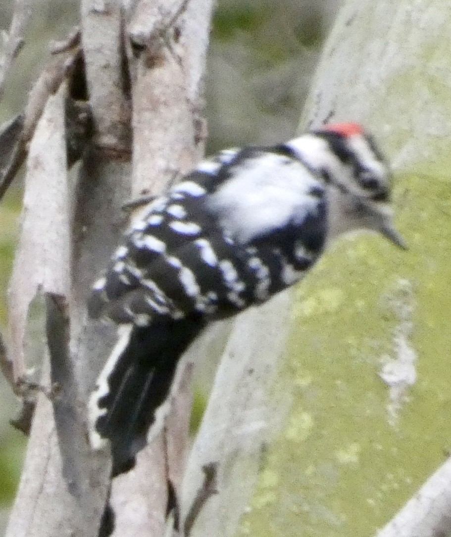
[[[226,315],[300,278],[323,248],[323,188],[293,158],[231,154],[155,202],[98,282],[91,314],[139,326]]]

